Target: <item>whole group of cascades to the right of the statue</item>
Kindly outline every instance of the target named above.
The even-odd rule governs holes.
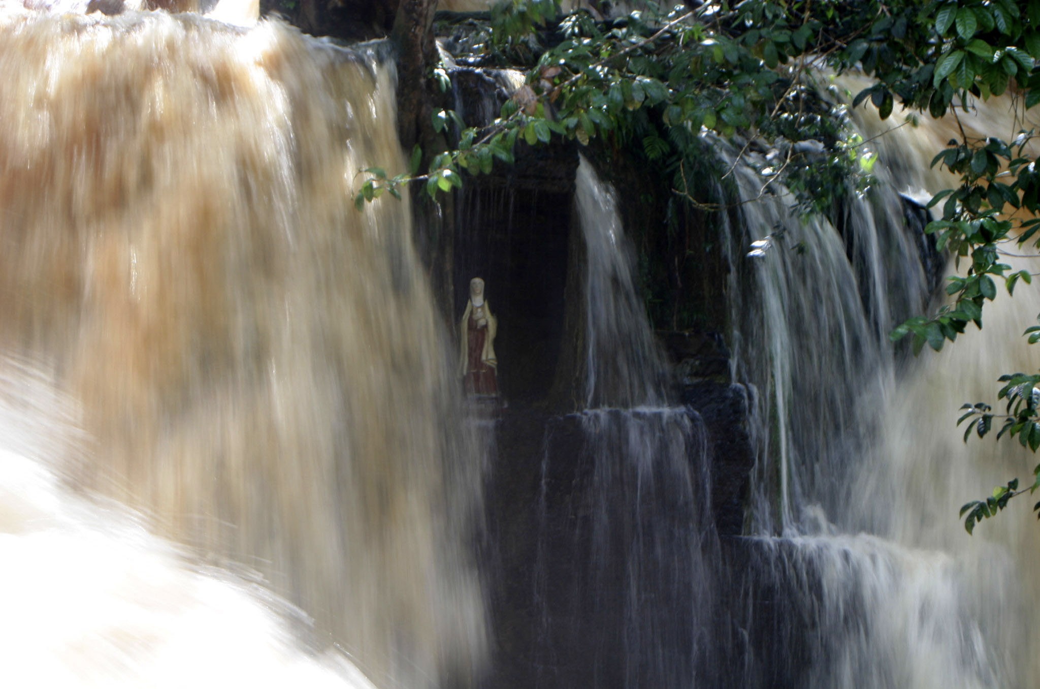
[[[957,519],[961,503],[1025,465],[995,451],[971,459],[953,420],[992,393],[983,351],[1026,349],[1000,321],[1040,303],[998,300],[981,335],[907,360],[888,332],[929,308],[934,250],[898,193],[905,181],[882,159],[877,183],[850,190],[832,224],[800,214],[782,187],[763,193],[766,160],[712,147],[733,170],[717,200],[740,202],[717,229],[730,241],[732,375],[754,389],[750,537],[714,532],[718,431],[667,406],[615,197],[582,161],[592,408],[551,422],[542,445],[538,683],[1034,686],[1033,525],[965,542]],[[983,350],[965,347],[972,336]]]

